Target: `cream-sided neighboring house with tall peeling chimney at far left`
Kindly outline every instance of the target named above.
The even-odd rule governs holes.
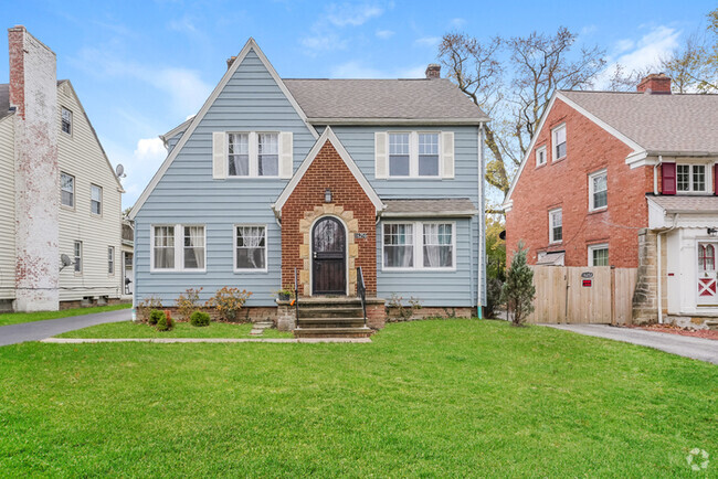
[[[55,53],[8,30],[0,84],[0,310],[119,300],[123,188]],[[62,258],[65,258],[63,264]]]

